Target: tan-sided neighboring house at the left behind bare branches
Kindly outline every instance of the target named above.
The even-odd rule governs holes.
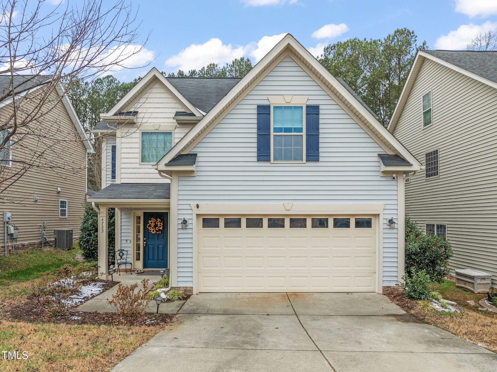
[[[92,151],[69,99],[50,76],[18,75],[13,81],[17,117],[12,116],[11,97],[0,103],[0,123],[20,125],[0,151],[0,255],[41,247],[43,223],[50,244],[54,229],[72,229],[73,238],[78,238],[86,156]],[[2,96],[10,91],[10,83],[10,76],[0,76]],[[9,130],[0,131],[2,139]],[[8,234],[5,212],[11,214]],[[16,235],[9,230],[14,225]]]

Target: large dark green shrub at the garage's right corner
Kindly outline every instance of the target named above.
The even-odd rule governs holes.
[[[452,257],[449,242],[433,234],[423,234],[406,216],[406,273],[412,269],[424,270],[432,282],[442,283],[449,273],[448,261]]]

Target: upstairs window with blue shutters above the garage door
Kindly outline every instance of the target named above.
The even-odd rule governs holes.
[[[306,106],[305,131],[303,106],[275,105],[272,110],[271,149],[271,106],[257,106],[257,161],[271,161],[271,155],[275,162],[319,161],[319,106]]]

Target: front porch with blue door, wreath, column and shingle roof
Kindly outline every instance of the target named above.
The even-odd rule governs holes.
[[[111,184],[87,198],[98,213],[98,273],[108,279],[109,257],[122,249],[128,270],[170,269],[170,184]],[[115,208],[115,247],[108,244],[108,210]],[[172,220],[173,221],[173,220]],[[110,254],[109,254],[110,253]],[[121,266],[121,272],[124,265]]]

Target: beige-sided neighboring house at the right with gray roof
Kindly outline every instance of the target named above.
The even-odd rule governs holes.
[[[419,51],[388,127],[424,165],[406,212],[446,238],[450,268],[497,285],[497,52]]]

